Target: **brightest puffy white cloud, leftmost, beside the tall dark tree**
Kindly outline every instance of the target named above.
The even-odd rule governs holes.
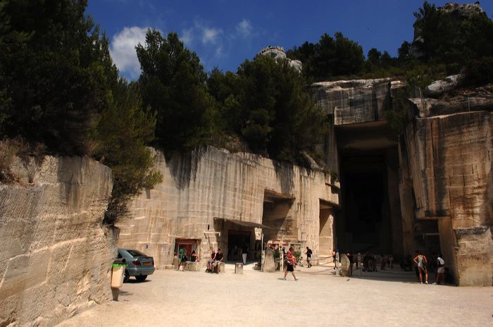
[[[136,79],[140,75],[140,63],[137,59],[135,46],[139,43],[144,44],[148,28],[124,27],[111,39],[110,54],[116,67],[127,73],[132,79]]]

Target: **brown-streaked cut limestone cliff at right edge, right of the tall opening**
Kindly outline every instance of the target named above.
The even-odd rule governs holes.
[[[403,212],[413,207],[416,219],[437,220],[442,252],[459,285],[493,281],[490,88],[413,99],[416,118],[400,147],[401,192],[411,187],[413,193],[411,204],[402,198]]]

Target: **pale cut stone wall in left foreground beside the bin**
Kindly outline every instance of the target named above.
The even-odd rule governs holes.
[[[53,156],[11,170],[19,183],[0,184],[0,326],[54,326],[109,300],[111,170]]]

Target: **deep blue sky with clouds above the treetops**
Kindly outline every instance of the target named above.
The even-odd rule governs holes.
[[[430,2],[442,6],[448,1]],[[89,0],[87,13],[111,39],[120,72],[136,79],[140,68],[134,47],[144,41],[147,27],[164,35],[177,32],[206,70],[236,71],[263,47],[290,49],[316,42],[325,32],[342,32],[365,54],[376,47],[394,56],[404,40],[413,39],[413,11],[422,5],[422,0]],[[493,1],[482,0],[481,6],[491,17]]]

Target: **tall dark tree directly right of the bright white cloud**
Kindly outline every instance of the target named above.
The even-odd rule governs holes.
[[[214,106],[199,56],[186,49],[175,33],[165,39],[158,30],[148,30],[145,44],[136,49],[144,107],[157,111],[158,147],[182,150],[206,143]]]

